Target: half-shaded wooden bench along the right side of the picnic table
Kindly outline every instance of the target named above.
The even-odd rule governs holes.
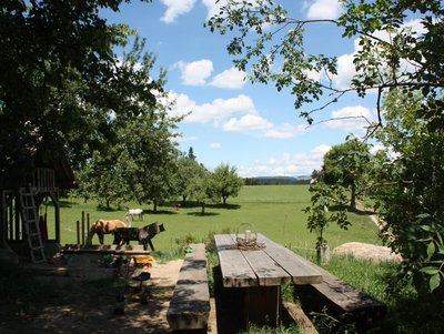
[[[326,270],[311,263],[323,277],[320,284],[297,285],[303,305],[311,311],[322,312],[323,306],[347,322],[354,322],[359,327],[369,328],[386,313],[386,305],[356,290]]]

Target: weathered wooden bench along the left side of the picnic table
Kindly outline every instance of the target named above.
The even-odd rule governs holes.
[[[167,320],[174,331],[208,330],[210,316],[210,292],[206,273],[205,245],[190,244],[179,272]]]

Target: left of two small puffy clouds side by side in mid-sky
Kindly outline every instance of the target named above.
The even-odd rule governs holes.
[[[206,78],[213,72],[213,62],[202,59],[193,62],[176,62],[173,68],[179,68],[182,72],[182,83],[186,85],[204,85]]]

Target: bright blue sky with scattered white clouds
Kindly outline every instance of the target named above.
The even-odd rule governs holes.
[[[287,90],[278,92],[273,83],[246,82],[245,73],[233,68],[226,52],[230,37],[203,28],[203,22],[218,10],[214,2],[134,1],[122,6],[118,13],[104,13],[110,23],[125,22],[147,38],[147,49],[157,55],[157,64],[168,70],[167,90],[176,101],[172,113],[192,112],[179,124],[181,151],[192,146],[208,169],[229,163],[241,176],[310,175],[313,169],[321,168],[322,156],[331,145],[343,142],[350,133],[364,134],[363,119],[343,118],[374,119],[374,93],[365,100],[349,94],[315,114],[315,121],[342,120],[307,126],[299,118],[300,111],[294,109]],[[280,2],[300,19],[333,19],[341,10],[337,0]],[[339,75],[333,82],[347,87],[354,73],[356,40],[342,39],[341,31],[322,23],[309,29],[306,45],[312,53],[337,55]]]

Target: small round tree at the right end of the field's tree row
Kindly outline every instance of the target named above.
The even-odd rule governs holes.
[[[235,166],[221,163],[212,173],[214,191],[226,205],[229,196],[235,198],[243,185],[243,180],[239,178]]]

